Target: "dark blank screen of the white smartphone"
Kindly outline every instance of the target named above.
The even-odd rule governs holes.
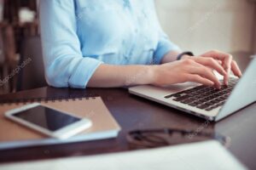
[[[61,127],[79,122],[81,119],[67,115],[61,111],[55,111],[44,106],[36,106],[26,111],[20,111],[13,116],[19,117],[26,122],[32,122],[39,127],[44,127],[49,131],[59,130]]]

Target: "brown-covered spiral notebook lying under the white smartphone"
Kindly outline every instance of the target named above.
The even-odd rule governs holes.
[[[92,127],[69,139],[59,140],[45,136],[30,128],[12,122],[4,117],[4,112],[37,100],[60,111],[87,117]],[[0,150],[44,144],[65,144],[79,141],[110,139],[117,137],[120,131],[116,122],[104,105],[101,97],[71,97],[59,99],[25,99],[23,102],[0,102]]]

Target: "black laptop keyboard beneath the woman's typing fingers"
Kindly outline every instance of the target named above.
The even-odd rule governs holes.
[[[212,111],[213,109],[224,105],[237,82],[237,78],[230,78],[229,85],[222,85],[221,89],[202,85],[183,90],[176,94],[167,95],[165,98],[172,98],[185,105],[194,106],[205,111]]]

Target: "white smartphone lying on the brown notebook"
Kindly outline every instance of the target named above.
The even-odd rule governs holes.
[[[5,116],[56,139],[67,139],[92,125],[89,119],[57,111],[39,103],[6,111]]]

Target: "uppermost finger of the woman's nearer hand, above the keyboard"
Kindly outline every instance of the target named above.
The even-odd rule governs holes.
[[[224,68],[222,67],[222,65],[220,65],[216,59],[197,57],[195,58],[195,61],[201,65],[206,65],[212,68],[213,70],[218,71],[218,73],[223,76],[226,76],[227,74],[227,72],[224,71]]]

